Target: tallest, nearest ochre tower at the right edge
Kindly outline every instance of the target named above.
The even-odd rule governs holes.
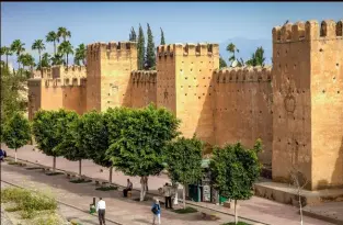
[[[273,29],[273,179],[297,168],[318,190],[343,184],[342,21]]]

